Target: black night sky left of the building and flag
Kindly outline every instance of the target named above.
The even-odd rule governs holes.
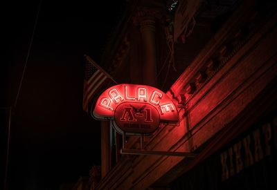
[[[99,122],[82,111],[83,55],[100,61],[125,4],[42,1],[12,115],[9,189],[58,189],[100,164]],[[1,5],[1,107],[15,102],[38,6]]]

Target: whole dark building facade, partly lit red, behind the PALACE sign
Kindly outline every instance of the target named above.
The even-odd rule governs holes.
[[[102,63],[178,107],[179,123],[145,136],[144,150],[197,155],[120,155],[122,137],[102,122],[91,189],[276,189],[276,23],[274,1],[129,1]]]

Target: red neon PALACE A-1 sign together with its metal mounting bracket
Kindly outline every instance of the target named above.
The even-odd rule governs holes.
[[[179,123],[179,110],[186,108],[185,96],[180,95],[178,105],[166,93],[142,84],[117,84],[102,92],[93,108],[93,117],[111,120],[111,125],[123,135],[121,154],[168,155],[194,158],[197,153],[146,150],[146,135],[157,131],[161,123]],[[92,110],[91,110],[92,111]],[[126,147],[126,135],[139,136],[140,146]],[[129,145],[129,144],[128,144]]]

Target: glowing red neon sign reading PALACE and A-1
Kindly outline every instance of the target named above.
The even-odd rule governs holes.
[[[108,88],[98,98],[93,116],[112,120],[120,133],[153,133],[160,122],[179,122],[177,108],[165,93],[137,84]]]

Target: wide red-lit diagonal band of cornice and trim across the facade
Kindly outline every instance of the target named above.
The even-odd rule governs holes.
[[[167,94],[177,104],[185,103],[185,109],[180,108],[179,111],[183,119],[179,125],[162,125],[145,149],[195,153],[204,146],[212,149],[207,142],[229,127],[253,99],[276,79],[277,50],[272,48],[276,46],[272,36],[277,35],[277,14],[269,13],[261,21],[256,11],[247,8],[249,1],[242,3],[172,85]],[[245,23],[252,31],[247,35],[240,28]],[[233,35],[230,37],[230,34]],[[229,50],[229,44],[235,44],[232,50]],[[263,57],[259,59],[259,55]],[[202,72],[206,73],[206,78]],[[195,91],[193,86],[186,88],[191,83],[195,84]],[[202,160],[205,156],[199,155],[196,159]],[[191,162],[190,158],[161,155],[123,156],[96,189],[146,189],[181,164],[185,169],[176,169],[170,179],[174,180],[181,172],[191,168]]]

